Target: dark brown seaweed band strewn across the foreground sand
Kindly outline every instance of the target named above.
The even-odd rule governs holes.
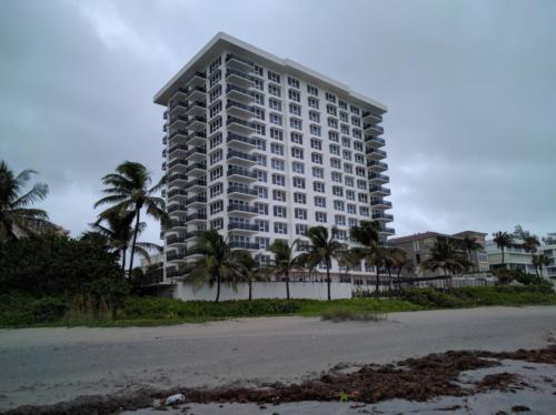
[[[262,387],[180,387],[171,391],[142,389],[127,395],[80,397],[52,406],[23,406],[9,411],[11,415],[31,414],[115,414],[122,409],[138,409],[152,405],[155,399],[183,393],[187,403],[271,403],[301,401],[355,401],[377,403],[386,399],[429,401],[437,396],[464,396],[485,391],[507,391],[519,382],[517,375],[499,373],[487,375],[471,388],[458,384],[464,371],[500,365],[502,360],[556,364],[556,346],[543,350],[519,350],[512,353],[446,352],[397,364],[364,365],[351,373],[331,371],[299,384],[272,383]]]

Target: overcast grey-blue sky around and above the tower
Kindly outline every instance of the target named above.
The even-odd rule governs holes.
[[[79,234],[118,163],[160,176],[152,97],[225,31],[389,107],[397,235],[556,232],[555,17],[552,0],[4,0],[0,159],[38,170]]]

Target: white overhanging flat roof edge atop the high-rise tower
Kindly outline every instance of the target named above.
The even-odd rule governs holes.
[[[353,91],[348,85],[341,82],[318,73],[289,59],[276,57],[224,32],[218,32],[199,52],[197,52],[193,58],[191,58],[191,60],[189,60],[189,62],[183,65],[183,68],[178,71],[178,73],[170,79],[170,81],[166,83],[166,85],[162,87],[160,91],[158,91],[153,98],[155,103],[167,105],[170,97],[180,87],[180,84],[187,81],[200,68],[210,64],[210,59],[214,59],[215,53],[220,53],[225,50],[251,55],[269,68],[277,68],[278,70],[287,69],[292,75],[297,74],[300,78],[310,80],[310,82],[315,83],[316,87],[338,92],[360,105],[374,107],[377,113],[384,113],[388,110],[385,104]]]

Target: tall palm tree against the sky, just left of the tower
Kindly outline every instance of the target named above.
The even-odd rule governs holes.
[[[125,161],[116,168],[115,173],[105,175],[102,183],[107,186],[103,192],[109,195],[95,203],[95,208],[105,204],[112,204],[112,206],[100,213],[100,217],[109,215],[110,212],[131,211],[135,213],[136,224],[129,255],[129,273],[131,274],[142,209],[146,208],[148,215],[160,220],[162,223],[168,221],[163,199],[155,196],[155,193],[160,191],[165,184],[165,178],[151,186],[152,178],[145,165]]]

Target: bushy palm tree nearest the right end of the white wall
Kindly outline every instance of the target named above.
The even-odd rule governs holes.
[[[310,270],[314,270],[319,263],[326,265],[327,298],[330,301],[330,269],[332,267],[332,260],[344,260],[346,245],[336,241],[332,234],[329,235],[325,226],[309,227],[306,236],[310,241],[309,251],[299,255],[299,261]]]

